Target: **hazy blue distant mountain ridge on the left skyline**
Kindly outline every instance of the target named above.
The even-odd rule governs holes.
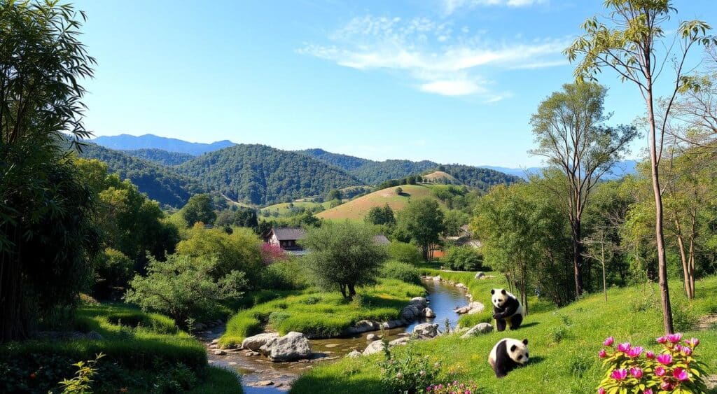
[[[236,145],[229,140],[214,143],[190,143],[177,138],[159,137],[153,134],[103,135],[90,140],[90,142],[115,150],[161,149],[168,152],[188,153],[193,156]]]

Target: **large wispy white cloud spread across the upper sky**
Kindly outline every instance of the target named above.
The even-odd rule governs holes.
[[[528,42],[519,37],[500,43],[485,39],[485,32],[456,28],[451,21],[369,15],[352,19],[328,42],[308,43],[298,52],[343,67],[407,76],[422,92],[477,95],[495,102],[510,95],[495,92],[495,83],[486,80],[485,73],[566,64],[560,52],[567,44],[566,39]]]

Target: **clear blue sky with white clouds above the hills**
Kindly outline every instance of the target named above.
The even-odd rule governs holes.
[[[81,0],[85,123],[365,158],[537,165],[528,120],[602,0]],[[675,1],[717,24],[713,0]],[[676,23],[676,20],[675,20]],[[668,76],[669,77],[669,76]],[[643,112],[611,72],[612,122]],[[633,155],[646,145],[635,143]]]

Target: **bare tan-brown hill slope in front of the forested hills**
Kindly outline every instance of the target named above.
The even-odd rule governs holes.
[[[401,195],[396,192],[398,187],[381,189],[374,191],[374,193],[366,194],[366,196],[348,201],[348,203],[343,203],[340,206],[328,209],[327,211],[319,212],[316,214],[316,217],[329,220],[361,220],[374,206],[389,204],[394,211],[401,211],[409,201],[421,198],[434,198],[438,201],[438,198],[432,191],[432,188],[435,186],[402,185],[399,187],[403,190]]]

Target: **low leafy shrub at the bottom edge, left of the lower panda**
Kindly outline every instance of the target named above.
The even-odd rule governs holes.
[[[400,357],[394,357],[385,342],[384,352],[386,360],[379,364],[381,383],[389,387],[391,393],[422,393],[431,382],[435,382],[440,364],[430,362],[428,356],[417,357],[409,351]]]

